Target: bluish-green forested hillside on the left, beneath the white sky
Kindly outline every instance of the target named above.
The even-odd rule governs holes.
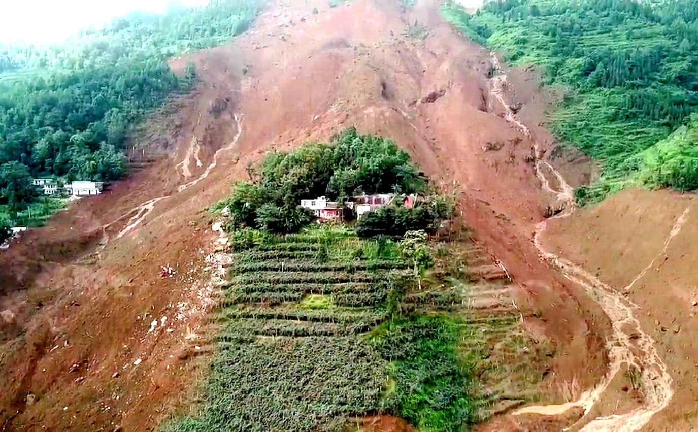
[[[67,181],[123,176],[120,149],[133,125],[195,78],[193,69],[176,77],[167,59],[241,33],[258,3],[218,0],[165,15],[133,13],[63,45],[0,46],[0,173]],[[0,190],[17,185],[4,177]],[[6,195],[0,206],[21,208],[32,198],[20,193],[26,199],[9,202]]]

